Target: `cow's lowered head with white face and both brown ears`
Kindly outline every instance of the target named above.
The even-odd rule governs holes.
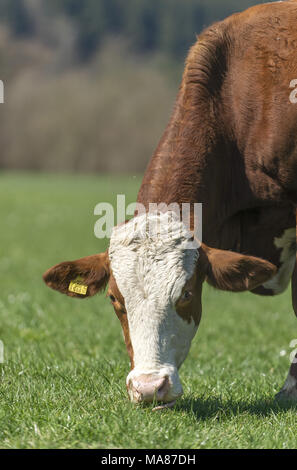
[[[168,213],[141,215],[114,228],[107,252],[44,274],[49,287],[77,298],[108,284],[130,356],[127,389],[133,402],[170,403],[182,394],[178,369],[200,322],[204,280],[240,292],[275,274],[276,268],[259,258],[204,244],[189,249],[189,236]]]

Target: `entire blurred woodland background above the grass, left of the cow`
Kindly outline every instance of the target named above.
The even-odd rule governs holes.
[[[0,169],[142,172],[203,27],[256,0],[0,0]]]

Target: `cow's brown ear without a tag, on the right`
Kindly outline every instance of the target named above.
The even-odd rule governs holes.
[[[203,243],[200,257],[206,281],[221,290],[253,290],[271,279],[277,271],[276,266],[261,258],[209,248]]]

